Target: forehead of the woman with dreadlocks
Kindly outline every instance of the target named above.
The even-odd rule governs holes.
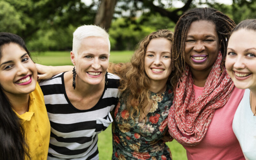
[[[214,35],[218,36],[216,26],[212,21],[197,20],[190,24],[187,36]]]

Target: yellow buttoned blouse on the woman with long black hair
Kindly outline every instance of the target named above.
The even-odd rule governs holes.
[[[44,95],[38,83],[35,91],[29,93],[28,112],[22,115],[16,113],[16,115],[22,120],[31,159],[46,160],[51,127],[44,104]]]

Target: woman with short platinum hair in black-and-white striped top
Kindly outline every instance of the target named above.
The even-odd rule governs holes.
[[[119,77],[107,72],[109,52],[104,29],[78,27],[70,52],[73,71],[40,82],[51,123],[49,160],[99,159],[98,134],[113,122],[110,111],[119,96]]]

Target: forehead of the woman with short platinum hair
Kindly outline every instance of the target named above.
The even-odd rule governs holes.
[[[86,37],[81,41],[81,46],[78,50],[78,54],[80,53],[109,54],[108,41],[102,37]]]

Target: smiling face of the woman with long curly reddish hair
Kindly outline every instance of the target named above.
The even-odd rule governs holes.
[[[166,83],[172,72],[171,49],[171,42],[165,38],[154,38],[149,42],[144,63],[150,81]]]

